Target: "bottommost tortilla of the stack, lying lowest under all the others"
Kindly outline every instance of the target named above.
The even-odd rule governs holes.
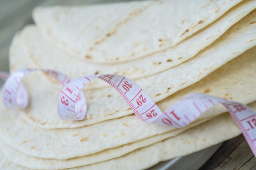
[[[251,105],[254,109],[255,102]],[[172,159],[174,157],[183,156],[196,152],[198,150],[210,147],[211,145],[218,144],[224,140],[228,140],[240,134],[238,126],[233,121],[228,113],[218,116],[208,120],[206,123],[186,130],[185,132],[177,135],[175,137],[170,137],[167,140],[157,142],[149,147],[144,147],[142,149],[137,149],[134,152],[126,154],[117,159],[111,159],[107,162],[100,162],[97,164],[91,164],[87,166],[81,166],[76,169],[146,169],[158,162]],[[34,168],[33,163],[28,162],[28,160],[36,159],[33,157],[28,157],[25,154],[17,152],[15,149],[11,149],[7,145],[3,145],[1,142],[1,148],[5,149],[5,154],[9,159],[16,162],[20,159],[23,164],[28,164]],[[6,157],[0,152],[1,162],[7,167],[16,167],[16,169],[22,169],[20,166],[12,164]],[[93,157],[93,155],[92,155]],[[36,159],[38,160],[38,159]],[[39,159],[40,163],[41,160]],[[53,162],[55,162],[53,160]],[[131,164],[132,162],[132,164]],[[42,164],[43,165],[43,164]],[[53,164],[54,166],[54,164]],[[70,169],[71,170],[71,169]]]

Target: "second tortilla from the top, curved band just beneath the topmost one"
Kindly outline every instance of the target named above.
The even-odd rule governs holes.
[[[68,55],[68,53],[60,48],[55,47],[55,44],[50,42],[40,30],[34,26],[28,26],[23,30],[21,42],[23,50],[28,56],[28,60],[33,62],[34,67],[37,68],[55,69],[60,72],[65,72],[73,78],[82,75],[115,73],[122,74],[125,77],[129,77],[129,79],[138,79],[162,72],[190,59],[200,50],[203,50],[203,48],[214,42],[220,35],[225,33],[230,26],[240,21],[241,18],[255,9],[255,7],[256,1],[243,1],[218,18],[218,20],[178,45],[162,52],[156,52],[152,55],[142,57],[138,60],[119,64],[95,64],[78,60]],[[48,58],[53,60],[51,64],[49,64]],[[15,64],[15,60],[11,60],[11,64]],[[65,67],[66,65],[68,65],[68,67]],[[16,64],[16,67],[11,68],[12,70],[16,70],[22,67],[26,66]],[[92,81],[92,84],[89,86],[95,88],[95,82],[96,81]],[[97,84],[97,86],[100,85],[101,84]],[[106,84],[102,83],[102,86],[105,85]]]

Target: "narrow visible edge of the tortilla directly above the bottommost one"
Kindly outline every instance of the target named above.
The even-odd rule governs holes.
[[[37,157],[29,157],[26,154],[17,152],[16,149],[9,147],[2,141],[0,141],[0,149],[4,151],[6,156],[9,157],[9,159],[11,159],[12,162],[15,162],[15,164],[18,164],[20,166],[28,167],[31,169],[66,169],[70,167],[84,166],[87,164],[95,164],[97,162],[103,162],[106,160],[121,157],[124,154],[132,152],[141,147],[146,147],[156,142],[160,142],[161,140],[165,140],[169,137],[176,136],[179,133],[185,130],[188,130],[189,128],[193,128],[196,125],[199,125],[203,122],[206,122],[207,120],[210,120],[210,118],[198,120],[195,123],[186,126],[186,128],[172,130],[170,132],[166,132],[161,135],[155,135],[153,137],[148,137],[144,140],[132,142],[127,145],[122,145],[122,146],[114,147],[111,149],[105,149],[102,152],[97,152],[95,154],[89,154],[84,157],[75,157],[71,159],[58,160],[58,159],[42,159]],[[24,162],[24,160],[26,160],[26,162]]]

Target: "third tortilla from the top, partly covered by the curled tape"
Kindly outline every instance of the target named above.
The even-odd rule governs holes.
[[[206,49],[200,52],[196,57],[188,60],[188,62],[184,62],[160,74],[138,79],[136,81],[137,84],[157,102],[203,79],[203,77],[206,77],[210,72],[213,72],[221,65],[229,60],[233,60],[233,58],[245,52],[245,50],[256,45],[255,16],[256,11],[252,11],[252,13],[230,28],[225,35],[213,42],[209,47],[206,47]],[[18,40],[14,42],[18,42]],[[21,47],[19,47],[19,49],[21,52],[17,53],[18,56],[12,58],[15,58],[16,61],[20,61],[17,63],[22,64],[24,58],[21,57]],[[250,55],[250,52],[246,53],[246,55]],[[244,60],[240,60],[239,63],[243,62]],[[228,65],[225,67],[228,67]],[[233,77],[231,79],[233,79]],[[43,84],[43,86],[33,86],[31,80],[43,82],[38,83]],[[31,91],[31,104],[26,110],[27,114],[23,114],[23,116],[33,125],[42,128],[75,128],[132,114],[129,106],[122,100],[122,97],[119,96],[117,91],[109,87],[85,91],[89,108],[84,121],[67,122],[60,120],[57,116],[55,103],[57,102],[58,93],[61,91],[62,87],[60,84],[54,84],[53,82],[54,81],[48,81],[46,77],[39,77],[35,74],[34,76],[32,74],[27,76],[27,81],[24,82]],[[216,84],[216,87],[217,86],[218,84]],[[43,92],[49,91],[50,88],[52,88],[53,91],[50,91],[48,95],[52,101],[45,100],[46,93]],[[170,101],[168,102],[170,103]],[[112,108],[114,108],[114,110]]]

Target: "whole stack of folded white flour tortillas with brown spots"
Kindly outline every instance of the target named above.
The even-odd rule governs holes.
[[[36,26],[14,36],[11,72],[55,69],[73,79],[122,74],[161,111],[195,92],[256,109],[255,8],[255,0],[38,7]],[[85,120],[60,120],[58,81],[34,72],[23,84],[26,109],[6,109],[0,101],[1,169],[146,169],[240,134],[223,106],[181,129],[144,123],[100,80],[83,90]]]

